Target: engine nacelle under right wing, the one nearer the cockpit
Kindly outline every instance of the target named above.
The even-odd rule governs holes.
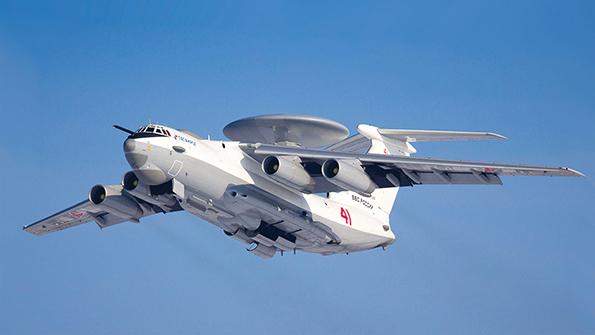
[[[300,191],[311,191],[314,179],[296,161],[297,158],[268,156],[262,161],[262,171],[281,184]]]

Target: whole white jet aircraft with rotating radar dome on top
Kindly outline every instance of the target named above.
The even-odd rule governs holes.
[[[149,124],[129,134],[132,170],[119,185],[95,185],[88,199],[23,229],[43,235],[94,221],[100,228],[187,211],[270,258],[277,252],[330,255],[385,248],[401,187],[501,185],[500,176],[581,176],[539,167],[414,158],[411,143],[500,140],[486,132],[402,130],[302,115],[264,115],[228,124],[231,141]]]

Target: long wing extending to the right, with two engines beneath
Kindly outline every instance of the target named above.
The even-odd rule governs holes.
[[[359,160],[378,187],[419,184],[502,184],[499,176],[582,176],[566,167],[413,158],[357,152],[338,152],[269,144],[243,144],[254,155],[298,156],[306,170],[317,180],[320,166],[327,159]],[[320,179],[320,178],[319,178]],[[334,191],[334,190],[331,190]],[[326,192],[317,187],[315,192]]]

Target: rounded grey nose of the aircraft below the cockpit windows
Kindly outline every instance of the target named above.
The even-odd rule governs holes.
[[[149,144],[150,145],[150,144]],[[146,143],[133,138],[124,141],[124,156],[137,177],[147,185],[159,185],[169,180],[166,174],[150,160],[151,149]]]

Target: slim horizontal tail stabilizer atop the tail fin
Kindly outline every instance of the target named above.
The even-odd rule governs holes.
[[[392,140],[403,142],[442,142],[460,140],[505,140],[506,137],[487,132],[446,131],[446,130],[409,130],[382,129],[378,133]]]

